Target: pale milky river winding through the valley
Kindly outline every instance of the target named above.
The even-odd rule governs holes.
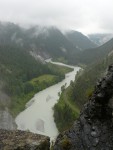
[[[61,87],[65,84],[69,86],[70,81],[75,80],[75,75],[80,68],[52,62],[51,60],[47,60],[47,62],[67,66],[74,70],[67,73],[63,81],[35,94],[26,104],[26,109],[16,117],[15,121],[19,130],[29,130],[54,139],[58,135],[58,130],[54,122],[52,108],[57,103],[59,98],[58,93],[61,92]]]

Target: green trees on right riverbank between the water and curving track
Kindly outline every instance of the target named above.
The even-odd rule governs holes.
[[[73,84],[72,81],[71,84]],[[63,90],[59,101],[54,106],[54,119],[60,132],[68,129],[79,115],[79,108],[71,100],[71,86],[61,89]]]

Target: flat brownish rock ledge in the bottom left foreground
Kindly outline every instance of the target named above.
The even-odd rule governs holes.
[[[49,140],[46,136],[30,132],[0,129],[0,150],[49,150]]]

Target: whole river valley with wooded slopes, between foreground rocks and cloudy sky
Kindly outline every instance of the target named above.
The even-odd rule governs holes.
[[[68,130],[113,63],[113,38],[98,45],[96,36],[0,23],[0,127],[51,140]]]

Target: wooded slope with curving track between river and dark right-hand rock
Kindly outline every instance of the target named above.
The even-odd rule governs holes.
[[[103,60],[89,65],[78,72],[76,80],[62,92],[59,102],[54,107],[55,122],[59,131],[68,129],[73,124],[80,109],[91,96],[96,81],[105,74],[107,67],[112,63],[113,54],[109,54]]]

